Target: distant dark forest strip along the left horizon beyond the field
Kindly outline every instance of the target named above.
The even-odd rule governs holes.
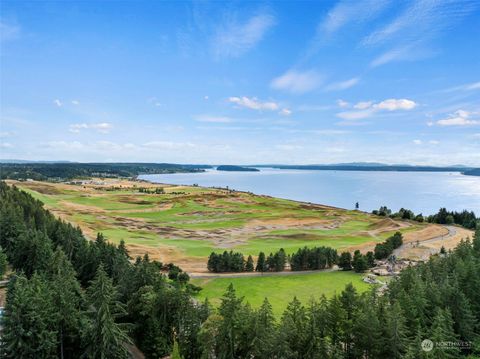
[[[0,163],[0,179],[37,181],[82,177],[136,177],[140,174],[200,172],[206,165],[172,163]]]

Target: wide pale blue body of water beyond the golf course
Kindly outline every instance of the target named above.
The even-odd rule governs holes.
[[[297,201],[372,211],[386,205],[433,214],[440,207],[480,214],[480,177],[457,172],[308,171],[261,168],[260,172],[142,175],[156,183],[226,187]]]

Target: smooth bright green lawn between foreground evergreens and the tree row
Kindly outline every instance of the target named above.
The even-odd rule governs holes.
[[[272,277],[193,279],[192,283],[203,288],[198,299],[208,298],[214,305],[220,303],[220,298],[232,283],[237,295],[245,297],[245,302],[254,308],[259,307],[267,297],[275,315],[279,317],[294,296],[308,305],[311,298],[339,294],[348,283],[352,283],[359,292],[372,288],[362,281],[363,276],[354,272],[335,271]]]

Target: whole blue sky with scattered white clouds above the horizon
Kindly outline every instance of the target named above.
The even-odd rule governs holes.
[[[2,1],[0,158],[480,166],[480,3]]]

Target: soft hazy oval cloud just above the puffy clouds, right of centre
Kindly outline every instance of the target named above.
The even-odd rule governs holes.
[[[270,86],[276,90],[300,94],[316,89],[321,82],[321,76],[314,70],[303,72],[289,70],[283,75],[274,78]]]

